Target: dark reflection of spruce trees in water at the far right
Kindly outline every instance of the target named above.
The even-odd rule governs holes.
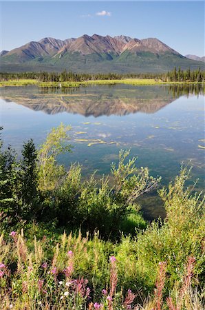
[[[183,84],[183,85],[169,85],[169,94],[173,94],[174,98],[179,98],[180,96],[186,95],[187,97],[190,94],[198,96],[199,94],[204,94],[205,85],[204,83],[197,84]]]

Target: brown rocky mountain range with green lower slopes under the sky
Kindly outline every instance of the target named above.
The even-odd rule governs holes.
[[[123,35],[84,34],[64,41],[44,38],[0,53],[1,72],[166,72],[174,67],[204,69],[204,63],[182,56],[156,38],[140,40]]]

